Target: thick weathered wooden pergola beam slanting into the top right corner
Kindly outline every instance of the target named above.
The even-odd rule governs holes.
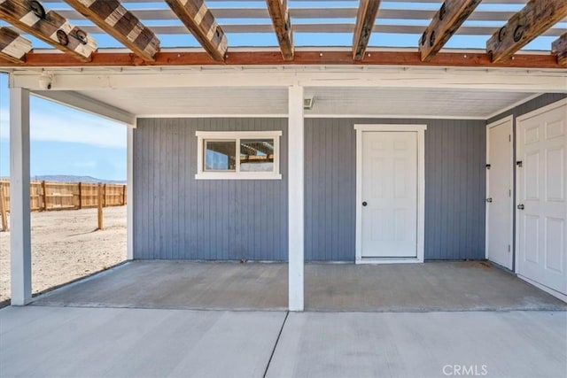
[[[486,42],[493,62],[511,58],[517,50],[567,17],[565,0],[530,0]]]

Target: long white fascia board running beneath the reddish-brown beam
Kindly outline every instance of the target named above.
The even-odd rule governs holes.
[[[137,71],[136,71],[137,70]],[[12,88],[40,90],[39,72],[12,72]],[[557,92],[567,89],[564,72],[537,70],[445,69],[442,67],[379,66],[361,70],[360,66],[316,67],[203,67],[202,69],[121,72],[54,73],[51,90],[154,89],[154,88],[250,88],[272,87],[361,87],[361,88],[434,88],[463,90],[514,91],[526,93]]]

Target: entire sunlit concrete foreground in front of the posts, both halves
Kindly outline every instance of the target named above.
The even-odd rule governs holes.
[[[567,312],[0,310],[3,377],[444,377],[463,366],[567,376]]]

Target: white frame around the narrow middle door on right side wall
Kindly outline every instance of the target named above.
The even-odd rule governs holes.
[[[509,122],[509,135],[514,140],[514,115],[509,115],[500,120],[486,125],[486,164],[489,163],[490,159],[490,129],[501,125],[502,123]],[[512,141],[510,141],[510,156],[509,156],[509,184],[510,190],[514,188],[514,149],[512,148]],[[490,189],[490,172],[486,169],[486,195],[488,195],[488,189]],[[514,263],[514,269],[516,269],[516,251],[514,248],[514,196],[510,192],[510,229],[509,229],[509,245],[510,252],[512,253],[512,262]],[[488,227],[489,227],[489,216],[488,216],[488,206],[485,204],[485,258],[490,259],[488,255]]]

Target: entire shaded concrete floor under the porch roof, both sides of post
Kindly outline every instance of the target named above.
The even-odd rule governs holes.
[[[305,279],[311,311],[567,310],[485,262],[307,264]],[[136,260],[37,297],[33,305],[285,310],[287,265]]]

